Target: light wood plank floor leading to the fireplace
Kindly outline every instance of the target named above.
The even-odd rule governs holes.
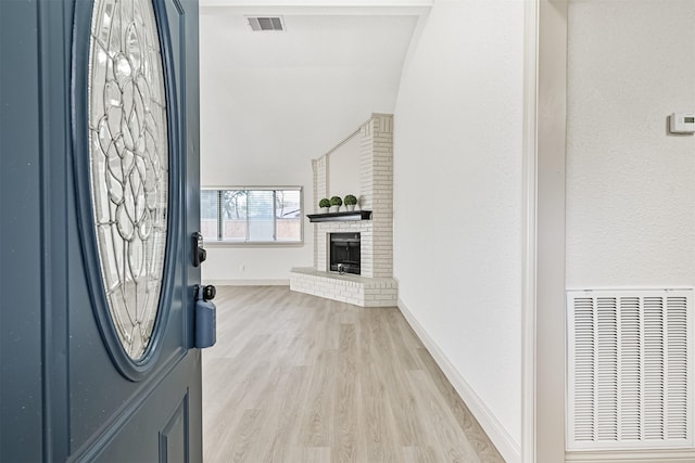
[[[504,462],[396,308],[217,288],[204,459]]]

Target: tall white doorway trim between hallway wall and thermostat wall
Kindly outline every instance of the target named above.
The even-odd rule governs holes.
[[[567,10],[568,0],[526,3],[521,400],[525,463],[565,461]]]

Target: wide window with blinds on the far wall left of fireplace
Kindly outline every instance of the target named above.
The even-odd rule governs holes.
[[[207,242],[302,243],[302,188],[201,191],[201,231]]]

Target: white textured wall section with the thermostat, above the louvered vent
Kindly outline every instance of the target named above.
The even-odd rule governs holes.
[[[693,285],[695,2],[569,7],[568,287]]]

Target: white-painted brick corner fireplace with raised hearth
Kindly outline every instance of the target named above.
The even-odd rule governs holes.
[[[314,267],[293,268],[290,290],[355,304],[391,307],[397,299],[393,280],[393,116],[372,114],[355,132],[359,138],[359,208],[369,220],[314,223]],[[330,197],[330,152],[314,159],[314,210],[318,200]],[[355,159],[357,162],[357,159]],[[330,234],[359,234],[359,274],[330,270]]]

